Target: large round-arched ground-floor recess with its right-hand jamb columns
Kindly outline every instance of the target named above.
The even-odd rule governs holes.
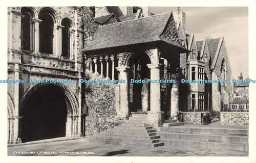
[[[76,137],[78,104],[62,84],[36,84],[20,102],[20,138],[23,142]]]

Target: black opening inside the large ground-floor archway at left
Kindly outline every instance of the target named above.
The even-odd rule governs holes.
[[[22,107],[23,142],[66,136],[68,114],[65,94],[59,86],[40,86]]]

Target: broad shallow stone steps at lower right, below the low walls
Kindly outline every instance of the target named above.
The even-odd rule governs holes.
[[[248,152],[248,129],[168,126],[160,127],[158,135],[169,147]]]

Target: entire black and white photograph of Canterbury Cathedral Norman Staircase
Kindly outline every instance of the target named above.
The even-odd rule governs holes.
[[[7,155],[248,157],[248,11],[8,6]]]

